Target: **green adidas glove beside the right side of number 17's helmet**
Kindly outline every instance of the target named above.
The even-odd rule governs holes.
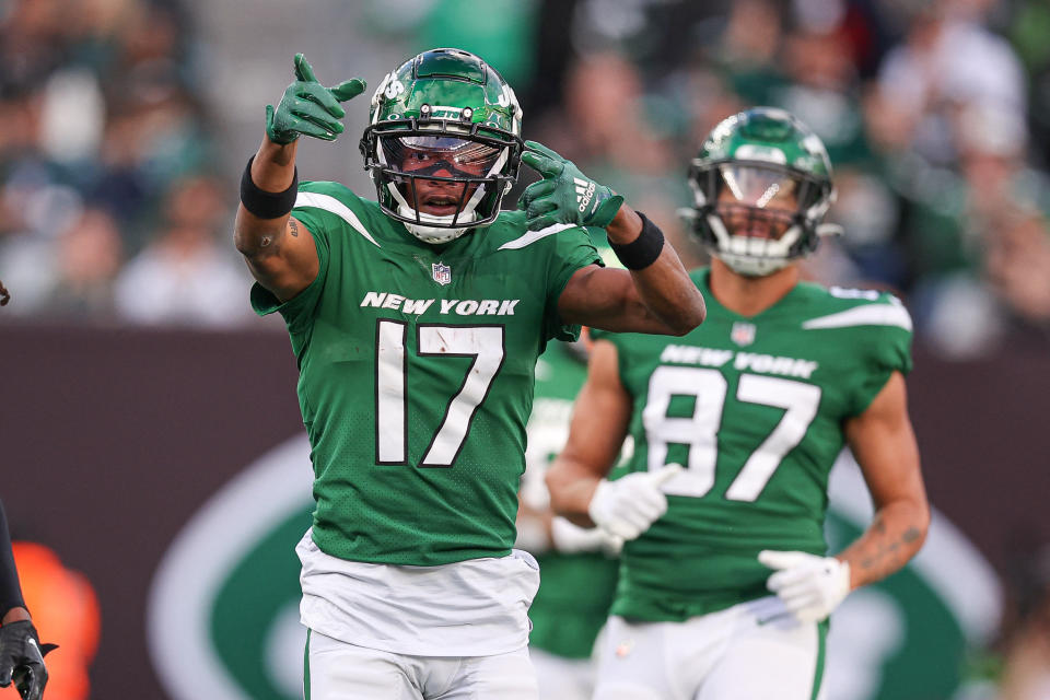
[[[544,176],[526,187],[517,200],[530,230],[556,223],[605,229],[616,218],[622,197],[598,185],[546,145],[525,141],[525,148],[528,150],[522,153],[522,162]]]

